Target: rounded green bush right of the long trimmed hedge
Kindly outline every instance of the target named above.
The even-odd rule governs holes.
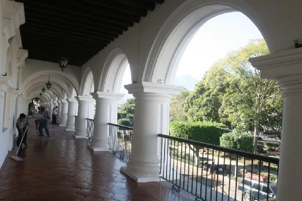
[[[222,134],[220,137],[220,146],[253,152],[253,136],[235,129],[231,133]]]

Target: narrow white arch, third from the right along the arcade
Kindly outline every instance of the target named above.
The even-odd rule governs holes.
[[[90,92],[94,91],[94,76],[91,68],[86,68],[81,80],[81,95],[91,96]]]

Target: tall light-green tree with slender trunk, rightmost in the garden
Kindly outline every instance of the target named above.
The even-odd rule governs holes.
[[[260,123],[267,123],[264,117],[269,119],[268,115],[272,115],[274,102],[282,103],[281,89],[276,81],[261,78],[260,71],[248,61],[250,57],[268,53],[264,40],[253,40],[238,51],[231,52],[222,62],[228,72],[226,82],[229,86],[222,97],[220,114],[237,128],[253,132],[254,153],[257,153]],[[278,114],[280,109],[277,109]]]

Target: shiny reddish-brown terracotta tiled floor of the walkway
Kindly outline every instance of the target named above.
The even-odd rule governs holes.
[[[158,182],[134,182],[120,172],[124,161],[91,152],[72,132],[49,129],[50,138],[38,137],[31,121],[25,161],[9,159],[0,175],[0,200],[184,200]]]

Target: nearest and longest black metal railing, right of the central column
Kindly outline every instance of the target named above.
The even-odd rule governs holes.
[[[159,134],[161,178],[195,200],[276,198],[278,158]]]

